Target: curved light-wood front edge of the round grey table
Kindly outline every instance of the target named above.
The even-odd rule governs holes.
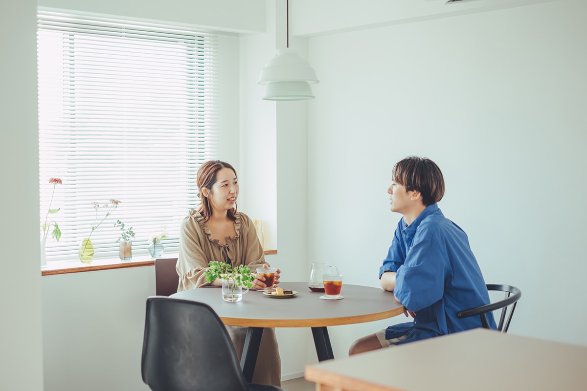
[[[232,317],[220,317],[225,325],[244,326],[244,327],[327,327],[351,325],[379,321],[381,319],[393,318],[403,314],[404,307],[393,308],[376,312],[375,314],[355,315],[351,317],[340,318],[322,318],[322,319],[242,319]]]

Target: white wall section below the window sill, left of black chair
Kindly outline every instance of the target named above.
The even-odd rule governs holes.
[[[153,267],[42,278],[45,390],[149,390],[141,379]]]

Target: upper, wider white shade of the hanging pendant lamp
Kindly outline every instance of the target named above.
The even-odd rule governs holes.
[[[259,84],[274,81],[305,81],[318,83],[315,70],[292,49],[277,49],[276,56],[265,64],[259,76]]]

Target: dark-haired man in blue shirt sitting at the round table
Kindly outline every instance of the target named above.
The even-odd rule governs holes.
[[[414,321],[357,339],[349,355],[482,327],[480,317],[458,319],[457,312],[490,302],[467,234],[438,209],[440,168],[428,158],[407,157],[393,167],[387,192],[392,212],[403,217],[379,278]],[[491,314],[488,321],[495,328]]]

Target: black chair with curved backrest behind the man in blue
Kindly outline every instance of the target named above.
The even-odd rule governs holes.
[[[499,310],[501,308],[500,322],[497,325],[497,329],[500,332],[507,332],[510,327],[512,315],[514,315],[515,305],[520,297],[522,297],[522,291],[511,285],[500,285],[500,284],[487,284],[488,291],[502,291],[505,292],[505,298],[500,301],[492,302],[487,305],[481,305],[481,307],[470,308],[457,312],[457,318],[463,319],[480,315],[481,324],[484,328],[490,328],[487,321],[487,312]],[[508,306],[512,305],[511,310],[508,314]],[[507,319],[506,319],[507,315]]]

